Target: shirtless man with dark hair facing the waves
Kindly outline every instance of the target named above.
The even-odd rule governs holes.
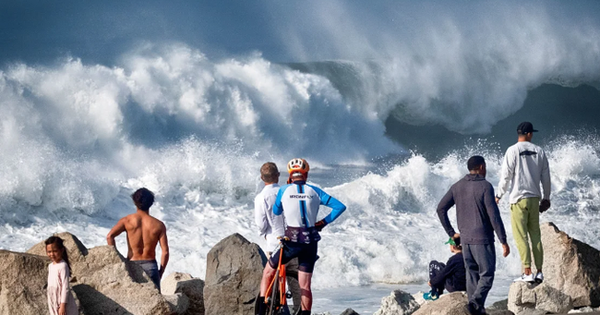
[[[160,279],[169,262],[167,229],[164,223],[148,213],[154,203],[154,194],[150,190],[140,188],[131,195],[131,199],[137,211],[119,220],[108,232],[106,241],[108,245],[115,246],[115,237],[126,232],[127,259],[142,267],[160,291]],[[156,244],[159,242],[162,250],[160,269],[156,264]]]

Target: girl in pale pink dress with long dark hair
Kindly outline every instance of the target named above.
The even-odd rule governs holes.
[[[75,315],[79,314],[77,304],[71,294],[69,278],[71,266],[67,249],[63,240],[51,236],[46,241],[46,255],[52,260],[48,266],[48,308],[50,315]]]

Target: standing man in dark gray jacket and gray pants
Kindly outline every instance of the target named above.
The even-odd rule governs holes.
[[[485,314],[485,299],[492,288],[496,272],[494,231],[502,244],[503,256],[510,253],[506,231],[494,200],[494,187],[485,180],[485,160],[472,156],[467,162],[469,174],[456,182],[444,195],[437,213],[452,238],[460,236],[467,269],[467,295],[470,314]],[[456,205],[456,219],[460,234],[456,233],[448,210]]]

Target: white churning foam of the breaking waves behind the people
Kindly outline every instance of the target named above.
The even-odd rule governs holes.
[[[375,169],[324,186],[348,210],[323,233],[315,286],[423,281],[429,260],[450,255],[437,202],[471,154],[486,157],[496,184],[503,153],[480,142],[440,161],[413,154],[378,169],[370,156],[401,149],[383,136],[373,107],[359,110],[325,78],[260,56],[211,61],[186,46],[144,48],[122,67],[16,65],[0,73],[0,94],[1,247],[24,250],[65,230],[87,246],[104,244],[133,210],[129,194],[146,186],[157,194],[152,213],[169,228],[168,271],[200,277],[222,238],[237,232],[261,242],[252,222],[260,164],[283,168],[303,156],[319,178],[348,165]],[[426,108],[418,111],[432,115]],[[598,232],[579,223],[599,219],[597,143],[551,143],[554,207],[542,216],[596,247]],[[118,246],[124,252],[123,237]],[[499,272],[519,272],[516,253],[498,261]]]

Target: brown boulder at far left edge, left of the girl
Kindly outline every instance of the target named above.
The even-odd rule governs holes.
[[[0,314],[48,314],[48,264],[45,257],[0,250]]]

